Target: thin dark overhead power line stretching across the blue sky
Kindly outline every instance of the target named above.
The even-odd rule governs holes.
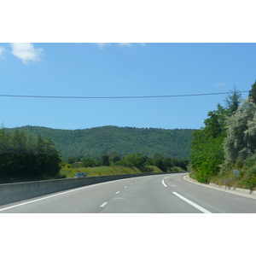
[[[238,93],[249,92],[249,90],[237,91]],[[32,96],[32,95],[7,95],[1,97],[21,97],[21,98],[57,98],[57,99],[139,99],[139,98],[168,98],[168,97],[186,97],[186,96],[209,96],[230,94],[229,92],[201,93],[201,94],[182,94],[182,95],[162,95],[162,96]]]

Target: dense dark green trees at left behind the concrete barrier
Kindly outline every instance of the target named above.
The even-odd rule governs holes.
[[[50,138],[26,136],[25,132],[0,129],[1,181],[57,177],[61,155]]]

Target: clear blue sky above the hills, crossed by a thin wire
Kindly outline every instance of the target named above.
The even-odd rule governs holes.
[[[250,90],[256,44],[0,44],[1,95],[175,96]],[[193,128],[227,95],[139,99],[0,97],[5,127]],[[247,97],[243,93],[242,97]]]

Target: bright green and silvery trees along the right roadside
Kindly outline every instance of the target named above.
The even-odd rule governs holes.
[[[201,183],[212,176],[239,170],[243,184],[256,186],[256,82],[246,99],[232,91],[224,106],[208,112],[205,126],[193,132],[190,159]]]

